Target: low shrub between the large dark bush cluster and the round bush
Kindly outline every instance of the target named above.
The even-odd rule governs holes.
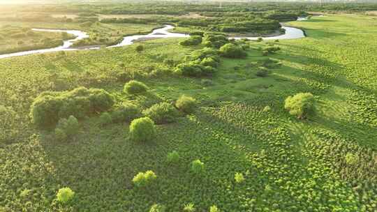
[[[117,110],[112,112],[112,121],[115,123],[123,121],[131,121],[133,119],[139,118],[141,116],[140,107],[130,103],[121,105]]]

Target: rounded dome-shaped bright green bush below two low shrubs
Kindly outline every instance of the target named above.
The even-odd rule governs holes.
[[[154,121],[148,117],[135,119],[130,125],[130,139],[135,142],[147,142],[156,136]]]

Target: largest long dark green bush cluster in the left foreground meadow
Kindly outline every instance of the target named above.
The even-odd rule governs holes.
[[[55,126],[59,119],[75,116],[81,119],[104,112],[114,105],[114,98],[103,89],[79,87],[73,91],[44,92],[32,103],[30,116],[39,127]]]

